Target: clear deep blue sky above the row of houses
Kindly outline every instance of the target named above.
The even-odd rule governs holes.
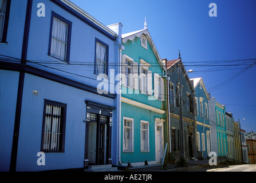
[[[253,60],[238,61],[256,61],[255,0],[72,2],[104,25],[121,22],[123,34],[143,29],[147,17],[160,57],[177,59],[180,50],[186,69],[194,70],[190,78],[202,77],[211,97],[240,119],[241,128],[256,131],[256,64],[242,73]],[[210,3],[216,3],[217,17],[208,15]],[[201,66],[205,63],[212,66]]]

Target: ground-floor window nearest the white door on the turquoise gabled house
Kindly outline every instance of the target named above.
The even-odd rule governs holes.
[[[149,151],[149,138],[148,138],[148,121],[140,121],[140,129],[141,129],[141,141],[140,141],[140,149],[141,151]]]

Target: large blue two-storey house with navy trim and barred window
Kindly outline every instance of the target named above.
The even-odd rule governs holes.
[[[121,23],[105,26],[68,0],[0,9],[0,170],[118,164]]]

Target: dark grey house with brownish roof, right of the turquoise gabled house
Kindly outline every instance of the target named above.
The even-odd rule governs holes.
[[[196,157],[194,86],[182,59],[163,59],[168,76],[168,158],[171,161]]]

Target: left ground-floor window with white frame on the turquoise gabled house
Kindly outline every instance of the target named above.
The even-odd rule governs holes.
[[[124,152],[133,151],[133,119],[124,117],[124,138],[123,150]]]

